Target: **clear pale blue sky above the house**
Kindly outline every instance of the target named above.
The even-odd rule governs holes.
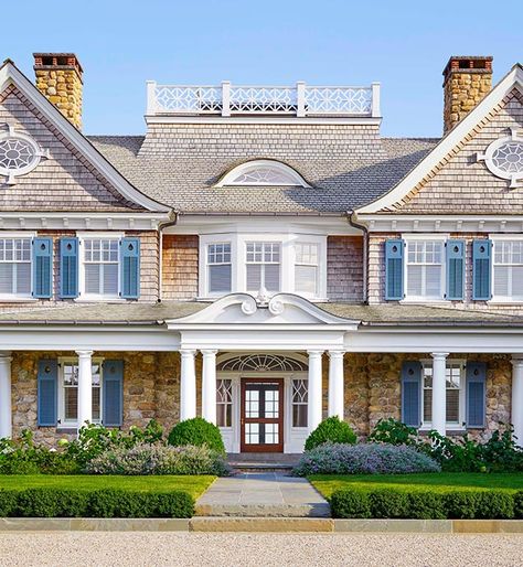
[[[522,0],[25,0],[2,6],[0,60],[33,52],[84,67],[84,132],[145,131],[146,81],[382,84],[384,136],[437,137],[450,55],[523,63]],[[9,25],[7,22],[11,22]]]

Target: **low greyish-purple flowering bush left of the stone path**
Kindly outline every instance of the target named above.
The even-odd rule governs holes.
[[[228,473],[223,453],[209,447],[139,443],[108,449],[87,463],[90,474],[216,474]]]

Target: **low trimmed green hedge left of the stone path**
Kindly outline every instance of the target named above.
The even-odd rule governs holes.
[[[191,517],[191,494],[132,490],[0,490],[4,517]]]

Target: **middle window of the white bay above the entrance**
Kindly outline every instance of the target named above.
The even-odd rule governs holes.
[[[280,289],[280,244],[247,243],[247,291],[267,291]]]

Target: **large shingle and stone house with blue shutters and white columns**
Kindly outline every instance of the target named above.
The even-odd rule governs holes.
[[[391,139],[378,84],[152,82],[145,136],[85,137],[75,55],[35,54],[36,85],[6,61],[0,437],[523,439],[523,67],[491,64],[450,58],[441,139]]]

